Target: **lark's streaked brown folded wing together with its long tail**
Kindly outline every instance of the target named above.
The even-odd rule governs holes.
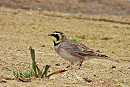
[[[64,49],[69,51],[69,53],[71,53],[71,55],[74,55],[74,56],[78,56],[81,58],[84,58],[84,56],[89,56],[89,57],[94,56],[96,58],[97,57],[98,58],[105,58],[105,59],[108,59],[111,61],[119,62],[116,59],[113,59],[113,58],[110,58],[106,55],[95,52],[94,50],[88,48],[87,46],[85,46],[81,43],[78,43],[76,41],[73,41],[73,40],[67,40],[67,41],[63,42],[63,44],[65,44],[65,45],[63,45]]]

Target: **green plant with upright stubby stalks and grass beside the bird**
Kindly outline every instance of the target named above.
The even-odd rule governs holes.
[[[32,76],[35,76],[36,78],[38,78],[38,77],[39,78],[50,77],[50,76],[52,76],[54,74],[58,74],[58,73],[62,73],[62,72],[67,71],[67,70],[60,70],[60,71],[56,71],[56,72],[53,72],[53,73],[47,75],[50,66],[46,65],[45,67],[43,67],[42,69],[40,69],[38,67],[38,65],[36,64],[36,61],[35,61],[35,50],[32,49],[31,46],[30,46],[29,50],[30,50],[31,59],[32,59],[32,68],[30,68],[30,70],[25,70],[25,71],[22,71],[21,69],[18,69],[18,70],[15,69],[15,70],[13,70],[13,75],[16,78],[19,78],[20,81],[22,81],[22,82],[30,82],[30,79],[29,79],[29,81],[26,81],[26,80],[23,80],[21,78],[30,78]]]

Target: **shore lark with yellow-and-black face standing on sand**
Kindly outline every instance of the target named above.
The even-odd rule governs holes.
[[[51,36],[53,39],[55,51],[62,58],[70,61],[71,65],[79,65],[79,69],[83,61],[93,58],[108,59],[119,62],[118,60],[100,54],[79,42],[67,39],[62,32],[54,31],[51,34],[48,34],[48,36]]]

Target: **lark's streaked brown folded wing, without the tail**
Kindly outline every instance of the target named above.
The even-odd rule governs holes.
[[[67,40],[64,43],[64,49],[69,51],[74,56],[83,57],[83,56],[96,56],[96,52],[87,46],[78,43],[73,40]]]

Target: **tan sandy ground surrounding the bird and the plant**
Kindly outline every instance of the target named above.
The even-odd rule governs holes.
[[[102,18],[127,23],[91,20]],[[47,11],[0,8],[0,87],[130,87],[129,18],[107,15],[80,17]],[[50,72],[65,69],[69,64],[56,54],[53,42],[47,36],[55,30],[64,32],[70,39],[80,37],[79,42],[120,63],[92,59],[85,61],[80,70],[68,71],[64,77],[61,77],[62,73],[50,79],[32,78],[27,83],[17,81],[12,71],[14,68],[25,70],[31,64],[29,46],[35,49],[39,66],[51,65]],[[57,63],[60,66],[55,66]],[[81,77],[80,81],[76,75]],[[83,78],[92,81],[86,82]]]

